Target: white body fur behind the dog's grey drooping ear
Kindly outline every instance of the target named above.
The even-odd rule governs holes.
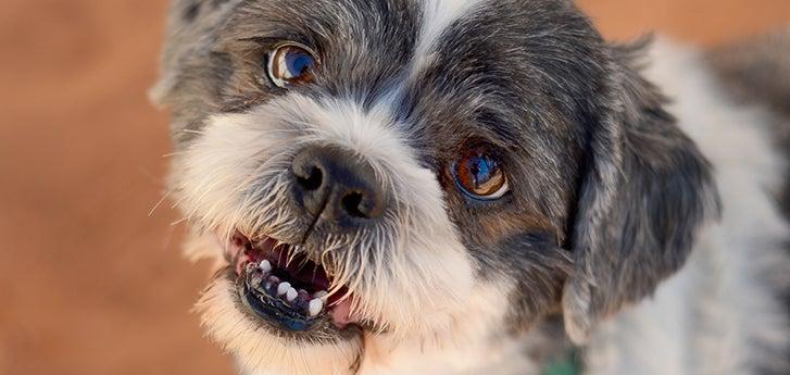
[[[650,61],[649,78],[673,98],[669,111],[714,165],[723,217],[652,299],[593,336],[588,373],[754,374],[755,363],[782,360],[765,348],[783,354],[790,340],[766,277],[790,264],[781,248],[788,226],[769,197],[783,171],[767,136],[770,117],[733,105],[694,51],[660,42]]]

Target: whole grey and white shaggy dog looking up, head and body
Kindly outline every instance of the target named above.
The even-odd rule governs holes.
[[[208,335],[244,374],[790,374],[787,35],[175,0],[152,97],[187,252],[216,262]]]

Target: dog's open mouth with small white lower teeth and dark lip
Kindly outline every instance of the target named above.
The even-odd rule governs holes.
[[[343,330],[363,325],[351,316],[353,295],[333,286],[324,266],[292,245],[236,233],[226,247],[243,307],[287,332]]]

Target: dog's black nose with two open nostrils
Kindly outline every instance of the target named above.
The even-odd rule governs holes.
[[[372,220],[386,209],[371,164],[339,148],[312,147],[293,159],[296,200],[312,215],[336,224]]]

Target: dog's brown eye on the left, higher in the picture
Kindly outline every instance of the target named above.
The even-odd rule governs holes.
[[[286,43],[268,54],[268,78],[277,87],[306,85],[313,82],[313,52],[298,43]]]

